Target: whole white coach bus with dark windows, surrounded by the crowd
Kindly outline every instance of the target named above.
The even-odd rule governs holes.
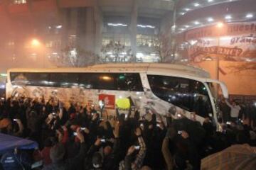
[[[114,118],[118,101],[129,98],[141,115],[183,115],[203,122],[210,116],[218,123],[213,84],[228,90],[208,72],[176,64],[100,64],[86,68],[9,69],[6,97],[57,98],[82,106],[105,102],[107,118]],[[124,108],[125,109],[125,108]]]

